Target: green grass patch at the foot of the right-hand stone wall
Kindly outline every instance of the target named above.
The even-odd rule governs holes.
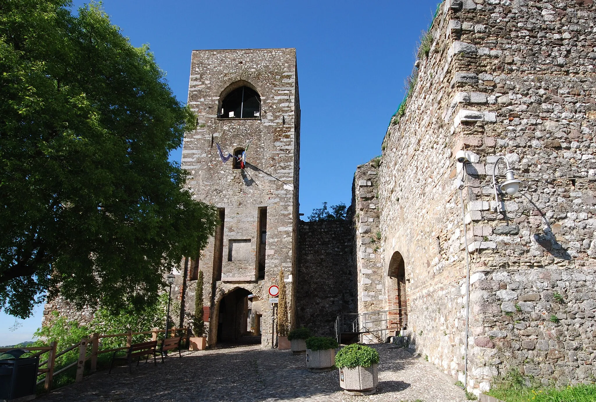
[[[524,378],[517,370],[511,370],[488,392],[492,397],[506,402],[594,402],[596,384],[579,384],[556,388],[541,386]]]

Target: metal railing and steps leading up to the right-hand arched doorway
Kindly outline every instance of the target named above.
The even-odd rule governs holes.
[[[403,310],[403,311],[402,311]],[[390,336],[406,329],[408,316],[405,309],[370,311],[367,313],[339,314],[335,322],[336,339],[339,344],[381,344]]]

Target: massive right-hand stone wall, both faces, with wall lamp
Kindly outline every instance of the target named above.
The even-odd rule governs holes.
[[[596,374],[594,21],[591,1],[443,2],[383,142],[383,276],[401,253],[410,347],[460,380],[467,224],[476,392],[513,367],[558,384]],[[458,150],[474,153],[463,176]],[[524,181],[504,212],[497,155]]]

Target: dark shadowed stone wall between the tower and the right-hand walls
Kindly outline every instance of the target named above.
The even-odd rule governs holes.
[[[297,326],[335,337],[337,314],[356,313],[352,219],[300,221]]]

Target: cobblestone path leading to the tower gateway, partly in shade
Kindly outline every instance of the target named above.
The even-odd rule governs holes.
[[[259,346],[187,352],[166,363],[117,367],[60,388],[38,400],[68,401],[465,401],[464,391],[430,363],[396,345],[380,353],[377,394],[353,397],[339,387],[337,370],[311,373],[305,356]]]

